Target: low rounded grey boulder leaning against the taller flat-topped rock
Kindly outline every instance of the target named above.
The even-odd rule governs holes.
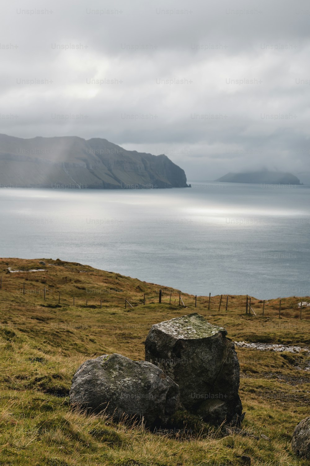
[[[89,359],[76,371],[70,390],[74,407],[146,425],[165,424],[177,410],[178,385],[157,366],[120,354]]]

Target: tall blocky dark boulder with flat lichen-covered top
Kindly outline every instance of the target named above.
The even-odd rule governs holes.
[[[179,385],[183,408],[212,424],[237,425],[244,418],[239,363],[226,335],[225,329],[196,313],[177,317],[152,326],[145,360]]]

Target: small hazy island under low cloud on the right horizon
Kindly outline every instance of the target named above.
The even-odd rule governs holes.
[[[244,173],[227,173],[216,181],[226,183],[257,183],[267,185],[300,185],[300,180],[284,171],[248,171]]]

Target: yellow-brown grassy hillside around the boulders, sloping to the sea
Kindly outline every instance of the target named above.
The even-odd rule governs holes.
[[[223,437],[185,414],[175,416],[173,432],[153,434],[141,425],[73,412],[68,403],[80,363],[115,352],[143,360],[152,324],[192,312],[225,327],[234,341],[309,347],[310,308],[303,309],[300,320],[297,307],[309,297],[282,299],[281,318],[278,299],[265,303],[264,317],[263,303],[254,297],[257,316],[245,314],[245,296],[229,296],[227,311],[223,296],[219,311],[220,296],[211,297],[208,310],[209,296],[198,296],[195,308],[195,297],[182,294],[184,308],[178,290],[42,260],[46,266],[39,259],[0,259],[1,465],[224,466],[249,464],[250,457],[251,465],[310,466],[290,448],[295,425],[310,411],[310,370],[305,370],[310,357],[303,351],[237,348],[245,433]],[[45,270],[30,271],[38,268]],[[125,309],[125,298],[133,308],[127,304]]]

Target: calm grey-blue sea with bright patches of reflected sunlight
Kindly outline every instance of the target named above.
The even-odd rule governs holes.
[[[81,262],[194,295],[310,295],[310,186],[189,183],[0,189],[0,256]]]

